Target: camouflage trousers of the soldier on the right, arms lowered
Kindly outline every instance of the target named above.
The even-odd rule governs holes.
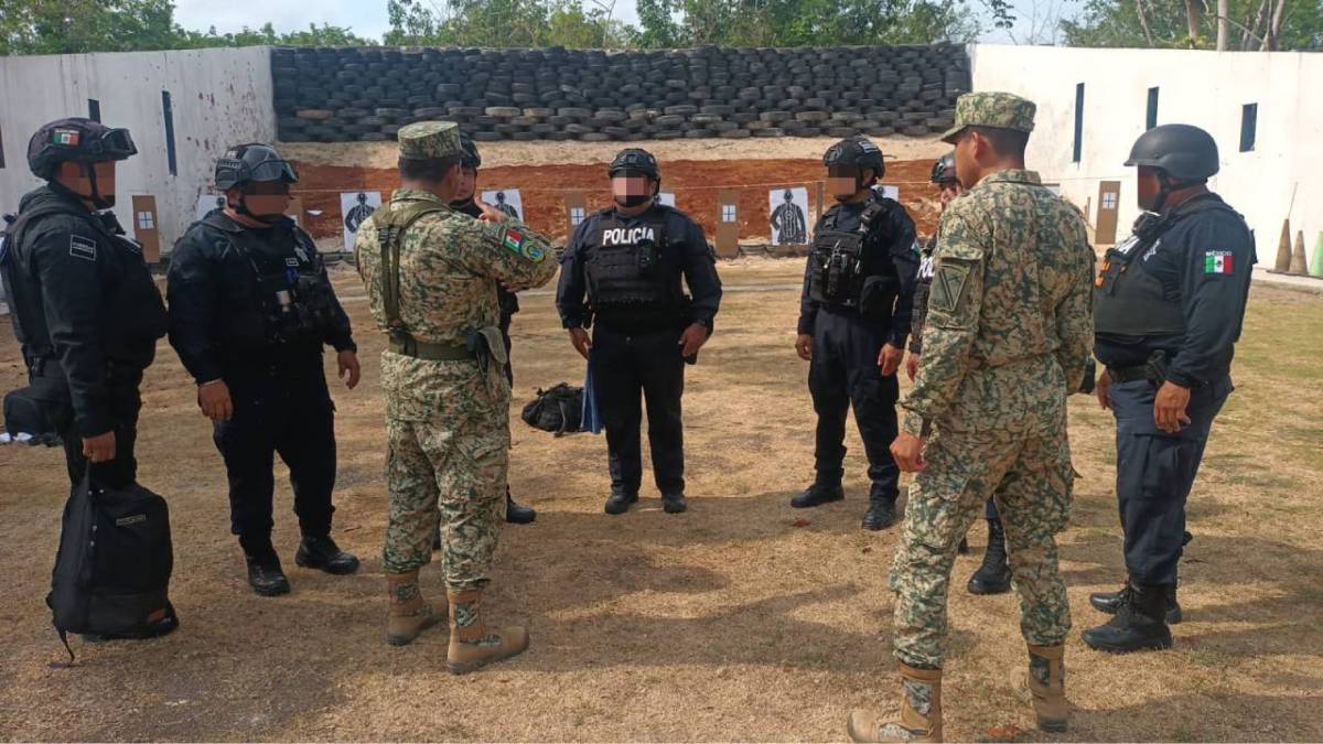
[[[1056,534],[1070,515],[1074,470],[1064,412],[1060,418],[1060,428],[1028,436],[939,430],[929,440],[927,470],[910,487],[890,573],[901,662],[942,667],[957,547],[988,496],[1005,527],[1020,633],[1035,646],[1065,641],[1070,605],[1057,568]]]

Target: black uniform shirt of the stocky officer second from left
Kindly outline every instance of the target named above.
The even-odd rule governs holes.
[[[214,214],[214,212],[213,212]],[[329,287],[325,263],[306,234],[299,240],[298,225],[282,220],[269,229],[245,228],[221,217],[225,228],[194,222],[175,244],[171,254],[167,295],[171,308],[169,340],[188,372],[198,384],[220,380],[225,372],[239,372],[262,364],[292,363],[320,369],[321,343],[336,351],[357,347],[349,318],[333,299],[333,323],[321,343],[274,349],[266,344],[265,318],[253,265],[235,246],[235,234],[257,238],[263,256],[255,259],[312,263]],[[298,344],[291,344],[298,346]]]

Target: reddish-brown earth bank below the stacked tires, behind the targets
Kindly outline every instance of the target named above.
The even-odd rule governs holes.
[[[613,155],[614,151],[601,163],[542,164],[536,168],[488,167],[484,160],[478,188],[519,189],[524,200],[524,221],[549,237],[565,240],[570,232],[565,209],[568,193],[582,193],[590,212],[610,205],[606,163]],[[400,185],[400,175],[393,165],[316,164],[304,160],[296,160],[295,165],[300,180],[294,195],[303,200],[303,225],[316,238],[339,238],[343,234],[340,192],[378,191],[382,199],[389,199]],[[937,189],[927,180],[931,167],[931,160],[889,162],[884,179],[885,184],[897,185],[900,201],[909,209],[921,234],[930,234],[938,217]],[[767,192],[807,187],[811,222],[814,214],[832,203],[828,196],[826,207],[818,204],[818,184],[822,180],[822,154],[814,159],[662,160],[663,189],[676,195],[676,208],[697,220],[709,241],[716,240],[722,191],[738,193],[740,237],[766,244],[770,241]]]

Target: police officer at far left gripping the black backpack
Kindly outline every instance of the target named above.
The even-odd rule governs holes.
[[[46,185],[22,197],[0,244],[15,336],[33,388],[54,404],[74,486],[85,475],[110,487],[136,479],[139,387],[168,323],[142,246],[110,210],[115,163],[136,152],[128,130],[91,119],[37,130],[28,167]],[[177,626],[171,610],[135,637]]]

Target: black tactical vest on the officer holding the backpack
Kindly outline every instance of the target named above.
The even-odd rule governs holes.
[[[120,269],[118,277],[102,278],[102,351],[110,360],[146,368],[155,357],[156,339],[169,330],[169,319],[142,245],[123,236],[114,213],[90,213],[57,200],[37,204],[17,217],[7,214],[0,237],[0,278],[28,368],[40,373],[41,364],[56,353],[46,328],[41,282],[32,266],[32,246],[26,245],[28,229],[53,214],[75,217],[91,226],[99,236],[98,248],[108,250],[107,259]]]

